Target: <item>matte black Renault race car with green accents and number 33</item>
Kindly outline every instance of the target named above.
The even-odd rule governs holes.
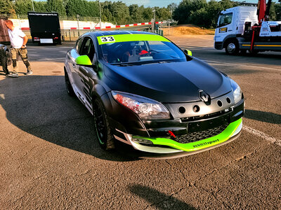
[[[149,155],[183,156],[236,139],[244,96],[225,73],[164,36],[83,34],[65,59],[65,85],[93,115],[101,148],[117,141]]]

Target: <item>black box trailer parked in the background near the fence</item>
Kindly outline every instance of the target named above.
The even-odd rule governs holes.
[[[61,44],[58,13],[28,12],[33,43]]]

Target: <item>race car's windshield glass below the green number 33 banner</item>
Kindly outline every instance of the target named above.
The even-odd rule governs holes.
[[[167,41],[124,41],[100,46],[103,58],[110,64],[186,61],[183,51]]]

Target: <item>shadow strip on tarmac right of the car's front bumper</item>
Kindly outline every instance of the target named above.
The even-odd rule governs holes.
[[[281,125],[281,115],[272,112],[246,109],[244,113],[244,118],[258,120],[264,123]]]

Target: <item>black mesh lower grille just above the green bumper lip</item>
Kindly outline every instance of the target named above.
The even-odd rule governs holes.
[[[204,131],[200,131],[200,132],[192,132],[190,134],[184,134],[181,135],[180,137],[176,137],[176,139],[174,139],[174,141],[181,143],[181,144],[187,144],[187,143],[191,143],[191,142],[195,142],[195,141],[200,141],[202,139],[207,139],[210,137],[214,137],[218,134],[220,134],[221,132],[223,132],[223,130],[226,129],[226,127],[228,127],[228,123],[218,126],[218,127],[214,127],[211,128],[209,130],[204,130]]]

